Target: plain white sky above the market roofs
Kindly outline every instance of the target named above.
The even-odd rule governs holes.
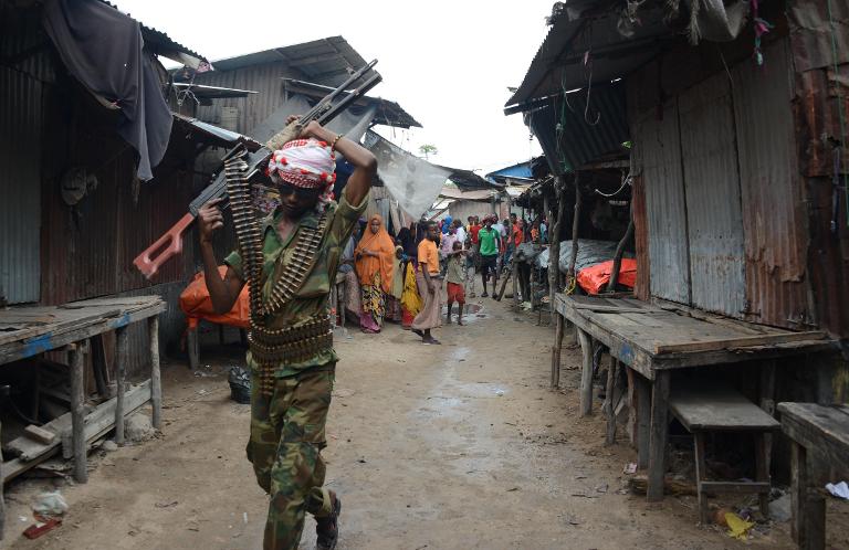
[[[423,128],[379,127],[431,161],[488,172],[539,155],[521,115],[503,114],[545,39],[553,0],[112,0],[210,61],[342,35],[379,61],[373,95],[398,102]]]

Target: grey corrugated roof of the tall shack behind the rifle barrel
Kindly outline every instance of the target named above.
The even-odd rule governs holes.
[[[334,87],[347,80],[348,70],[357,70],[366,64],[366,60],[344,38],[328,36],[302,44],[219,60],[213,62],[213,66],[218,71],[233,71],[276,62],[282,62],[297,70],[310,82]],[[373,68],[366,73],[364,78],[370,78],[374,74],[375,70]]]

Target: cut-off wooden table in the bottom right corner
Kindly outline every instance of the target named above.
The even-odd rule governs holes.
[[[849,406],[814,403],[778,403],[782,430],[793,440],[793,538],[799,548],[826,546],[825,498],[810,484],[810,456],[849,472]]]

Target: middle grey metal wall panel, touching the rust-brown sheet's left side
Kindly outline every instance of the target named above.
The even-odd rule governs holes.
[[[719,73],[679,97],[691,302],[733,317],[745,309],[743,213],[731,86]]]

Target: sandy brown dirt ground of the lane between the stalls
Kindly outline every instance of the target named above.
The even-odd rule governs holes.
[[[392,325],[337,336],[325,456],[344,503],[340,549],[793,548],[788,523],[738,542],[700,527],[692,497],[649,505],[629,494],[633,449],[604,445],[600,415],[576,417],[576,350],[552,391],[552,329],[489,299],[480,315],[438,331],[440,347]],[[87,485],[13,483],[7,547],[261,548],[266,498],[244,458],[249,408],[230,401],[222,374],[238,357],[205,350],[202,377],[166,364],[161,435],[94,451]],[[52,485],[70,511],[29,541],[29,505]],[[314,548],[314,528],[307,520],[302,548]],[[846,535],[831,542],[849,547]]]

